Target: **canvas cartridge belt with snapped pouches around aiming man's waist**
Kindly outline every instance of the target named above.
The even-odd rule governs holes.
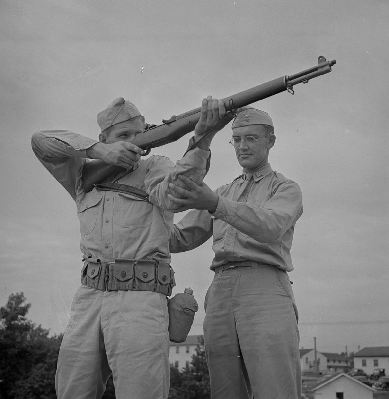
[[[161,261],[115,259],[106,263],[88,258],[81,271],[81,284],[103,291],[153,291],[169,296],[176,281],[172,267]]]

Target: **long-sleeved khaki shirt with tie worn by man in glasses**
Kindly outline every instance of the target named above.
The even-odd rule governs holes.
[[[297,183],[265,164],[215,190],[215,213],[193,210],[174,225],[172,253],[196,248],[213,235],[211,269],[227,262],[255,261],[293,270],[293,231],[303,212]]]

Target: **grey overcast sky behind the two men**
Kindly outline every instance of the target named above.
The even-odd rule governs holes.
[[[60,333],[80,284],[76,207],[32,153],[34,131],[97,138],[118,96],[160,124],[323,55],[331,73],[254,104],[275,124],[272,168],[303,191],[289,274],[300,347],[389,346],[388,17],[387,0],[2,0],[0,306],[24,292],[28,317]],[[241,173],[230,136],[212,143],[211,188]],[[152,153],[176,161],[188,139]],[[190,286],[200,304],[191,334],[212,258],[211,241],[173,255],[174,293]]]

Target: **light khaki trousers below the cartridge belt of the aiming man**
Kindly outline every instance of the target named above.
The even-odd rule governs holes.
[[[117,399],[169,393],[166,296],[81,286],[58,356],[58,399],[100,399],[111,373]]]

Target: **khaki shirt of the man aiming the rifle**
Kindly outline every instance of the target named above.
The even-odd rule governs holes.
[[[115,259],[153,259],[170,263],[168,238],[173,209],[168,184],[184,174],[195,182],[203,179],[209,151],[194,148],[174,165],[163,156],[140,160],[133,171],[122,172],[110,182],[145,190],[149,201],[129,194],[82,188],[85,150],[97,141],[67,130],[44,130],[32,136],[32,149],[46,169],[76,201],[84,258],[102,262]]]

